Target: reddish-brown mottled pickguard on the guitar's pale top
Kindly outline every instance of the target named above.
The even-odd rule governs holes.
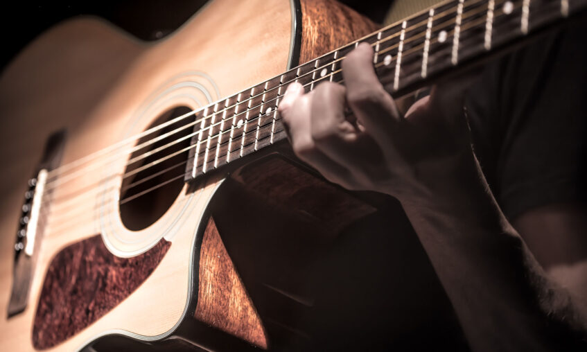
[[[112,310],[148,278],[170,245],[161,239],[139,256],[120,258],[98,234],[62,249],[43,282],[33,324],[35,349],[64,342]]]

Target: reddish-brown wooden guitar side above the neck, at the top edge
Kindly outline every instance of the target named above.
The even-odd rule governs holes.
[[[300,64],[373,33],[380,27],[334,0],[301,0],[301,17]]]

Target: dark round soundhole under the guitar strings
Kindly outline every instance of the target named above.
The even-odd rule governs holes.
[[[157,121],[148,128],[173,120],[191,112],[189,107],[175,107],[159,116]],[[159,220],[169,209],[171,204],[184,186],[183,175],[186,172],[186,161],[193,127],[185,127],[181,131],[175,130],[193,121],[193,118],[182,118],[175,123],[161,128],[157,132],[141,138],[136,146],[158,139],[155,143],[135,150],[129,158],[125,170],[120,195],[120,213],[125,227],[132,231],[139,231]],[[162,137],[166,134],[169,136]],[[159,140],[159,137],[162,137]],[[184,138],[186,137],[186,138]],[[181,141],[178,141],[180,140]],[[160,149],[160,150],[159,150]],[[183,152],[179,152],[184,150]],[[148,155],[152,153],[152,155]],[[177,155],[174,155],[177,153]],[[148,156],[146,156],[148,155]],[[174,155],[170,157],[170,155]],[[146,157],[145,157],[146,156]],[[133,161],[136,160],[136,161]],[[156,162],[157,164],[149,166]],[[139,170],[137,172],[137,170]]]

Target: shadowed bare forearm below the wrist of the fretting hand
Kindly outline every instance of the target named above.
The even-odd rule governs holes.
[[[576,302],[547,279],[502,215],[473,160],[462,179],[404,209],[475,351],[552,351],[580,343]],[[586,345],[587,346],[587,345]]]

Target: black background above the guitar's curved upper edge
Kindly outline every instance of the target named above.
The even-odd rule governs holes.
[[[79,15],[102,17],[143,40],[159,39],[189,19],[207,0],[21,1],[2,9],[0,67],[37,35],[64,19]],[[351,8],[383,21],[389,1],[342,0]]]

